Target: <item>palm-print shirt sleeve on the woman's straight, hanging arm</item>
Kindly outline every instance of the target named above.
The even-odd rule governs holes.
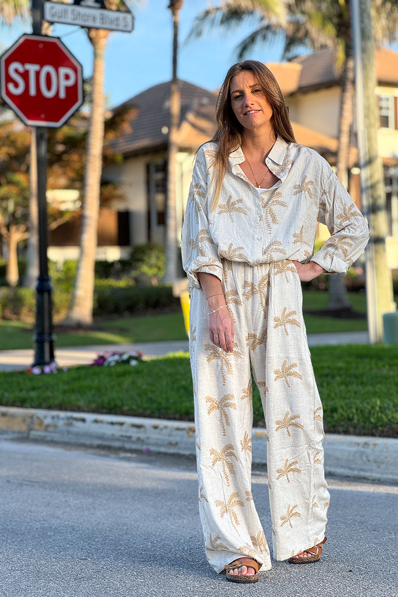
[[[223,280],[223,265],[210,234],[206,202],[208,180],[208,166],[202,150],[193,167],[181,237],[183,268],[195,288],[200,288],[198,272],[211,273]]]

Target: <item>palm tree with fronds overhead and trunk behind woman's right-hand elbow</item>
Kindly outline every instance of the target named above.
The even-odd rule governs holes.
[[[289,13],[287,19],[270,7],[271,0],[226,0],[220,7],[209,8],[196,17],[189,39],[197,38],[217,26],[233,28],[243,19],[257,21],[257,29],[236,48],[238,59],[259,42],[270,42],[285,36],[282,59],[292,57],[303,46],[311,50],[335,49],[335,65],[341,73],[341,104],[338,131],[337,176],[347,186],[350,152],[352,106],[354,97],[354,53],[351,35],[350,0],[285,0],[280,2]],[[372,0],[374,36],[377,44],[392,42],[398,37],[398,4]],[[327,309],[350,306],[343,275],[329,278]]]

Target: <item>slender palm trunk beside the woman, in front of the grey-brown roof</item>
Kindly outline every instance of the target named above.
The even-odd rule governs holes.
[[[175,282],[177,271],[177,201],[175,198],[175,170],[178,152],[178,127],[180,126],[181,96],[177,79],[178,56],[178,12],[183,0],[170,0],[168,8],[173,19],[173,63],[172,80],[170,84],[170,123],[167,155],[167,203],[166,203],[166,270],[165,281]]]

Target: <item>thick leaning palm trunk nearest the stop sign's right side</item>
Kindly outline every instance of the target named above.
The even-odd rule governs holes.
[[[109,31],[107,30],[88,30],[88,36],[94,48],[94,70],[92,73],[92,106],[87,140],[80,256],[72,304],[65,320],[65,323],[72,325],[92,324],[95,251],[97,249],[104,137],[104,50],[108,35]]]

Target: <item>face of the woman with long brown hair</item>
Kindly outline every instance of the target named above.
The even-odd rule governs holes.
[[[232,77],[230,97],[233,113],[244,129],[266,127],[273,130],[272,108],[250,70]]]

